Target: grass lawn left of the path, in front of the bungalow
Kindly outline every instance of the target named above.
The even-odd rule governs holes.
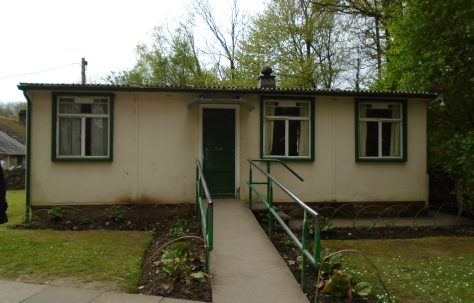
[[[151,234],[129,231],[15,230],[24,191],[9,191],[9,222],[0,225],[0,278],[44,283],[58,279],[111,282],[132,292]]]

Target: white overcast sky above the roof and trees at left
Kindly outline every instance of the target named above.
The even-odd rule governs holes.
[[[231,0],[210,0],[225,16]],[[186,19],[192,0],[5,0],[0,4],[0,102],[24,101],[20,82],[101,82],[110,71],[131,68],[135,47],[151,41],[157,25]],[[240,0],[250,12],[263,0]],[[207,33],[205,29],[198,31]],[[39,73],[38,73],[39,72]],[[34,74],[33,74],[34,73]],[[29,75],[27,75],[29,74]],[[21,76],[16,76],[21,75]]]

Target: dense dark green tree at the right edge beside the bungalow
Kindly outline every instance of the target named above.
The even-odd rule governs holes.
[[[472,1],[402,1],[390,29],[393,42],[377,87],[440,94],[446,106],[429,106],[429,166],[447,173],[473,201]]]

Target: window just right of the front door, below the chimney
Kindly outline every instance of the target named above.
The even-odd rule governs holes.
[[[312,160],[313,102],[268,99],[262,103],[263,157]]]

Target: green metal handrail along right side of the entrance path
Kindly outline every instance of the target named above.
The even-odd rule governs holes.
[[[280,223],[283,230],[286,234],[293,240],[295,245],[301,250],[302,264],[301,264],[301,287],[304,288],[306,284],[306,265],[309,261],[315,268],[318,268],[321,261],[321,217],[320,215],[311,207],[306,205],[301,201],[295,194],[288,190],[285,186],[281,184],[280,181],[275,179],[270,175],[271,163],[282,164],[287,168],[293,175],[295,175],[299,180],[303,181],[294,170],[289,168],[285,163],[274,160],[274,159],[257,159],[257,160],[248,160],[250,163],[249,169],[249,181],[247,182],[249,186],[249,207],[252,208],[252,192],[257,195],[257,197],[267,206],[268,208],[268,236],[271,238],[273,235],[273,221],[276,220]],[[264,171],[262,168],[258,167],[255,162],[265,162],[267,171]],[[256,168],[260,173],[267,177],[267,182],[253,182],[252,180],[252,167]],[[267,197],[265,198],[254,185],[266,184],[267,185]],[[293,231],[286,225],[283,219],[278,215],[276,210],[273,208],[273,184],[278,186],[283,192],[285,192],[296,204],[304,210],[303,217],[303,229],[301,235],[301,241],[293,233]],[[308,214],[314,218],[314,249],[313,251],[309,250],[309,223],[308,223]]]

